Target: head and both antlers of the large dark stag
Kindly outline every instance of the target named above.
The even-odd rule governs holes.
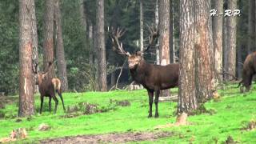
[[[143,54],[145,54],[146,51],[150,49],[150,46],[153,45],[154,39],[158,38],[158,30],[155,30],[153,26],[148,26],[148,28],[150,30],[149,45],[146,47],[146,50],[137,51],[135,54],[126,52],[126,50],[124,50],[122,47],[122,42],[119,43],[118,39],[121,38],[123,34],[125,34],[125,30],[121,30],[119,28],[118,30],[114,30],[113,28],[111,30],[110,38],[112,40],[113,50],[118,54],[128,57],[129,69],[135,69],[142,62]]]

